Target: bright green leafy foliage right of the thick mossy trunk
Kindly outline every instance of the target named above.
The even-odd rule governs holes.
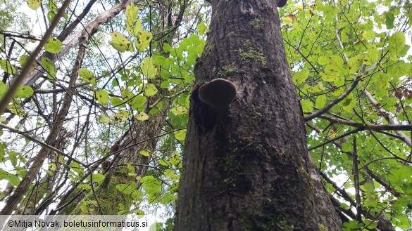
[[[335,4],[296,3],[280,10],[287,59],[302,98],[304,116],[335,101],[324,116],[358,124],[410,124],[412,110],[408,107],[412,100],[406,93],[410,91],[412,68],[406,42],[411,40],[410,4]],[[355,79],[360,81],[349,92]],[[336,101],[345,92],[347,96]],[[373,229],[378,225],[379,214],[392,219],[391,223],[401,229],[410,228],[411,213],[406,204],[411,203],[412,179],[410,169],[402,165],[410,164],[411,147],[394,137],[400,133],[410,137],[409,131],[360,131],[326,143],[356,127],[325,117],[311,119],[308,124],[308,147],[318,147],[311,150],[313,159],[330,179],[345,178],[343,187],[347,190],[354,190],[352,155],[355,151],[358,154],[362,209],[370,216],[364,217],[362,223],[345,223],[344,230]],[[375,174],[373,178],[371,173]],[[354,194],[341,199],[342,207],[353,209],[349,201],[354,200]],[[400,206],[401,202],[404,206]]]

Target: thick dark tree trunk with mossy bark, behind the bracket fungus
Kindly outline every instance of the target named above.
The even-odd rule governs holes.
[[[276,4],[212,1],[196,79],[228,79],[237,98],[216,113],[192,93],[175,230],[318,230]]]

